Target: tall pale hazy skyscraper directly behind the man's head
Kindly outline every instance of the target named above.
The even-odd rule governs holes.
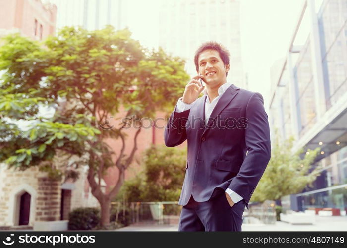
[[[231,54],[228,80],[244,87],[239,15],[239,0],[160,1],[159,46],[184,58],[186,70],[193,76],[198,46],[211,40],[220,42]]]

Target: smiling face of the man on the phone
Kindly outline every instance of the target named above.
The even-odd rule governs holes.
[[[229,64],[224,65],[219,52],[216,50],[204,50],[199,55],[199,74],[204,76],[204,81],[209,87],[219,87],[227,81],[226,72]]]

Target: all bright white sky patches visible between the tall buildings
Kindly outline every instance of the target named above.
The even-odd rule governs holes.
[[[67,0],[50,1],[56,3],[58,9],[59,4],[63,4],[63,11],[74,11],[78,2],[82,2],[74,0],[74,5],[71,5]],[[122,3],[127,7],[127,14],[122,15],[122,18],[133,33],[132,37],[148,48],[158,48],[157,17],[160,1],[162,0],[126,0]],[[260,92],[264,96],[265,105],[268,105],[270,68],[278,59],[286,56],[304,0],[239,1],[241,56],[243,69],[248,77],[248,90]],[[322,0],[314,1],[320,3]],[[104,4],[104,8],[105,6],[107,5]],[[58,21],[57,19],[57,25]],[[305,41],[306,38],[307,33],[302,40]],[[228,48],[228,44],[224,45]]]

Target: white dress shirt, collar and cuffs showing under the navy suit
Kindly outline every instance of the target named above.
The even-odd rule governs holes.
[[[213,111],[213,109],[215,108],[216,104],[218,103],[218,100],[221,98],[221,96],[223,95],[223,93],[231,86],[230,82],[226,82],[225,84],[222,84],[219,88],[218,88],[218,96],[212,100],[212,102],[210,103],[210,99],[208,96],[206,96],[206,103],[205,103],[205,124],[207,124],[208,119],[211,116],[211,113]],[[205,95],[207,95],[206,91],[204,92]],[[176,106],[176,112],[180,113],[186,110],[189,110],[194,104],[195,104],[196,100],[194,102],[192,102],[191,104],[187,104],[184,103],[181,98],[178,99],[177,102],[177,106]],[[242,200],[243,198],[236,193],[235,191],[232,191],[230,188],[226,189],[226,193],[230,196],[231,200],[234,203],[239,202],[240,200]]]

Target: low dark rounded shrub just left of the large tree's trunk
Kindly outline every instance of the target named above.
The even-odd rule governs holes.
[[[69,213],[69,230],[91,230],[100,222],[100,210],[93,207],[76,208]]]

